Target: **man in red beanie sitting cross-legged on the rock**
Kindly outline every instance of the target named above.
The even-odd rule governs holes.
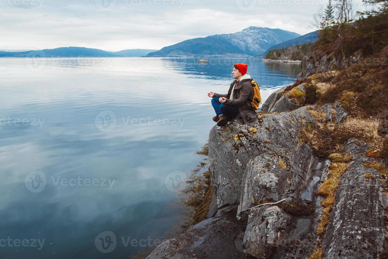
[[[235,80],[230,84],[228,93],[208,93],[208,96],[212,97],[211,104],[216,112],[213,120],[220,127],[225,126],[236,117],[242,118],[243,122],[249,126],[253,126],[257,121],[256,112],[252,108],[252,79],[246,73],[247,69],[247,64],[234,64],[232,75]]]

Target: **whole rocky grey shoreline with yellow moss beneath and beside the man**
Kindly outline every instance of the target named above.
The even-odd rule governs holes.
[[[338,100],[309,105],[332,87],[312,71],[330,65],[303,62],[305,81],[272,93],[254,127],[236,119],[211,129],[208,218],[147,259],[386,258],[388,163],[355,137],[326,139],[335,152],[315,154],[325,144],[315,134],[341,129],[348,113]]]

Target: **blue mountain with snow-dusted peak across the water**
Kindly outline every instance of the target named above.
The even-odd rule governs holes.
[[[255,57],[277,43],[299,36],[300,34],[291,31],[251,26],[236,33],[185,40],[156,52],[151,52],[147,57]]]

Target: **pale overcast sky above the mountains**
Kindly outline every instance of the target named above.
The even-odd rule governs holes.
[[[161,49],[249,26],[303,35],[313,31],[307,27],[322,1],[0,0],[0,49]]]

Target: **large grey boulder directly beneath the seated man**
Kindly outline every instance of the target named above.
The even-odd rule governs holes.
[[[255,127],[241,125],[235,121],[227,127],[215,126],[211,129],[209,169],[218,207],[242,202],[239,212],[244,211],[249,206],[253,193],[263,186],[269,188],[268,198],[279,198],[280,195],[295,197],[297,190],[293,189],[294,182],[298,186],[303,185],[299,182],[306,180],[303,179],[305,175],[302,175],[306,171],[305,165],[312,160],[312,150],[300,140],[299,134],[301,128],[308,124],[314,127],[314,118],[306,108],[307,106],[290,113],[259,114],[260,119]],[[301,123],[302,120],[304,123]],[[298,152],[294,152],[294,149]],[[264,163],[264,167],[258,163]],[[270,163],[270,166],[267,166],[267,163]],[[256,174],[259,172],[257,170],[263,171],[263,177],[255,175],[252,181],[261,184],[248,187],[247,184],[251,184],[253,167]],[[262,169],[267,170],[267,173]],[[293,184],[280,193],[280,189],[287,182],[288,171],[291,171],[289,178],[292,178]],[[299,178],[293,177],[298,175]],[[278,184],[270,182],[271,177]],[[242,181],[244,183],[241,185]],[[275,184],[274,188],[278,191],[274,191],[271,184]],[[241,187],[244,188],[243,195]]]

